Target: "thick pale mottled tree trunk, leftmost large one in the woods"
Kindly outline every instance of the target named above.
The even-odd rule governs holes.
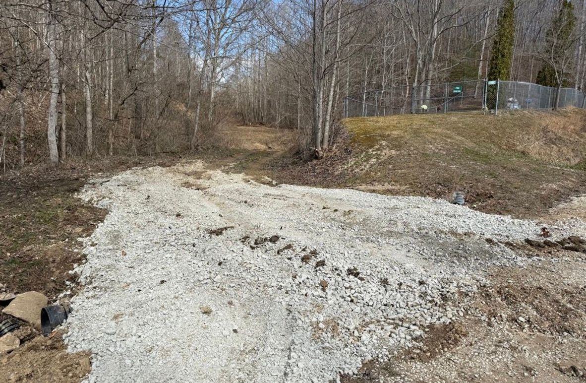
[[[52,6],[52,3],[49,4]],[[52,12],[50,8],[49,12]],[[49,83],[51,96],[49,99],[49,113],[47,118],[47,143],[49,144],[49,163],[56,167],[59,164],[57,151],[57,99],[59,97],[59,63],[57,63],[57,21],[52,13],[49,14],[47,39],[49,48]]]

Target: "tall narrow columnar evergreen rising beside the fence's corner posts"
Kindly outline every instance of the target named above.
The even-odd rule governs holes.
[[[515,43],[515,0],[505,0],[500,9],[492,43],[488,70],[489,80],[509,80]]]

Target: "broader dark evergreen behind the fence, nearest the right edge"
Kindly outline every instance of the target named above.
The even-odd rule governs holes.
[[[536,82],[540,85],[558,87],[558,77],[561,80],[561,86],[569,86],[567,79],[560,76],[560,72],[567,72],[567,69],[560,71],[566,63],[568,52],[574,52],[574,28],[576,25],[576,16],[574,15],[574,5],[563,0],[557,17],[551,23],[551,28],[547,31],[546,44],[543,50],[544,63],[543,67],[537,73]],[[557,74],[556,74],[557,69]]]

